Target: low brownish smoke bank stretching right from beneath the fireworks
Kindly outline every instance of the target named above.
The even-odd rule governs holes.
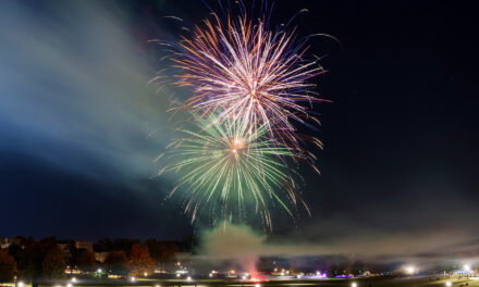
[[[330,226],[316,225],[320,230],[332,232]],[[245,225],[222,223],[204,230],[196,259],[209,262],[233,262],[251,271],[251,262],[260,257],[297,259],[339,257],[374,264],[416,264],[422,269],[440,264],[471,264],[479,262],[479,241],[468,241],[470,235],[462,228],[429,230],[423,233],[391,233],[364,228],[348,229],[349,235],[333,235],[332,241],[305,241],[286,236],[282,240],[267,237]],[[451,233],[456,236],[451,238]],[[414,237],[414,239],[413,239]],[[248,265],[245,266],[245,263]]]

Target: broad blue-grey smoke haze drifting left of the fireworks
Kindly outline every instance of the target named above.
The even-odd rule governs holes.
[[[0,21],[2,146],[93,176],[152,174],[168,97],[147,86],[158,54],[134,20],[91,1],[3,1]]]

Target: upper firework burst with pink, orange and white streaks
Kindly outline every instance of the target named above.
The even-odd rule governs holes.
[[[185,105],[201,115],[221,111],[219,120],[241,118],[267,129],[283,144],[297,145],[294,122],[316,121],[310,103],[319,99],[308,79],[323,70],[305,60],[304,41],[290,33],[269,30],[266,21],[246,14],[221,22],[205,20],[193,37],[183,37],[174,57],[182,73],[176,85],[193,87]],[[304,103],[307,104],[304,104]]]

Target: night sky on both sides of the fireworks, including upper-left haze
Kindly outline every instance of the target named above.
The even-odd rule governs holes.
[[[326,146],[322,175],[302,170],[312,216],[280,216],[270,237],[477,248],[474,1],[274,1],[271,23],[304,8],[299,35],[341,41],[314,38],[309,50],[329,70],[317,82],[332,102],[309,130]],[[196,0],[1,1],[0,236],[192,233],[163,200],[172,183],[151,177],[171,138],[168,93],[186,91],[146,85],[164,65],[147,40],[182,33],[163,16],[192,26],[208,13]]]

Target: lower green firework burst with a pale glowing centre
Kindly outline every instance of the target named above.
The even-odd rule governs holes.
[[[200,211],[214,220],[242,217],[254,207],[271,227],[270,208],[280,205],[293,215],[292,207],[303,200],[284,161],[300,157],[266,137],[265,125],[248,121],[219,121],[193,114],[196,130],[181,128],[181,138],[170,148],[170,163],[163,172],[180,175],[179,188],[185,196],[185,213],[195,221]],[[306,207],[306,205],[305,205]],[[246,212],[247,213],[247,212]]]

